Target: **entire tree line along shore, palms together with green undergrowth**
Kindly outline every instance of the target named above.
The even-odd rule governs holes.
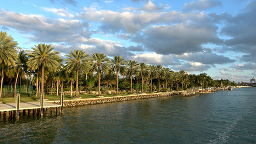
[[[228,79],[214,80],[206,73],[195,75],[188,74],[184,70],[175,72],[161,65],[138,63],[135,60],[125,60],[121,56],[109,58],[103,53],[89,55],[83,50],[73,50],[63,60],[59,56],[60,52],[55,51],[51,45],[38,44],[31,49],[22,50],[10,35],[1,31],[0,97],[2,97],[4,79],[5,84],[14,85],[15,96],[18,76],[24,74],[29,77],[34,75],[30,80],[30,86],[33,84],[36,86],[36,96],[46,92],[45,84],[48,93],[53,94],[54,89],[56,95],[59,87],[61,92],[63,88],[69,89],[72,95],[75,84],[76,97],[78,90],[81,89],[86,91],[97,89],[98,96],[105,90],[115,90],[118,94],[118,85],[122,90],[130,90],[130,93],[179,91],[191,87],[236,86],[236,83]]]

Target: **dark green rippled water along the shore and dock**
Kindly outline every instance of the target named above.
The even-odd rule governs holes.
[[[0,120],[0,143],[256,143],[256,88]]]

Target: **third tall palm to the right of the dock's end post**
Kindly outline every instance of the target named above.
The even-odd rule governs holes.
[[[127,61],[121,56],[114,56],[110,61],[113,71],[116,72],[116,94],[118,94],[118,72],[123,71]]]

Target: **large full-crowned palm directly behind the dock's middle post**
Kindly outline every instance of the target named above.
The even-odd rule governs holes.
[[[34,51],[30,51],[29,56],[31,56],[27,62],[30,69],[36,70],[41,69],[41,94],[44,94],[44,79],[45,79],[45,69],[54,72],[59,67],[58,56],[59,52],[54,51],[54,47],[46,44],[35,45],[35,48],[31,48]]]

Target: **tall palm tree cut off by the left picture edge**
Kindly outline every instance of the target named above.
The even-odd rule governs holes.
[[[7,32],[0,32],[0,69],[1,69],[1,88],[0,98],[2,97],[4,69],[6,66],[15,66],[17,58],[18,43],[13,40]]]

